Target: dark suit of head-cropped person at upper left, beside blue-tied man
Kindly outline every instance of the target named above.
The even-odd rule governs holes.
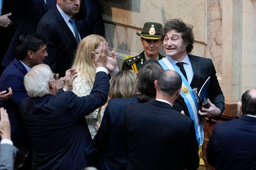
[[[12,17],[15,18],[15,22],[13,22],[15,33],[1,64],[5,67],[7,67],[14,59],[15,43],[19,36],[27,32],[34,33],[36,31],[37,24],[46,13],[42,0],[10,1],[12,3]],[[52,6],[56,4],[56,0],[46,0],[46,3],[47,8],[51,9]]]

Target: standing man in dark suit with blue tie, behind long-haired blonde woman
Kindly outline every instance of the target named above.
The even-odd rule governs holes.
[[[70,68],[77,45],[83,38],[72,17],[79,9],[80,0],[57,0],[56,6],[41,18],[36,28],[36,33],[47,39],[48,57],[44,63],[61,77]]]

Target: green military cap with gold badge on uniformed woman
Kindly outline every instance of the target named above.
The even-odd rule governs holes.
[[[161,38],[162,28],[162,24],[159,24],[157,22],[146,22],[143,26],[141,33],[137,33],[137,35],[141,36],[144,39],[157,40]]]

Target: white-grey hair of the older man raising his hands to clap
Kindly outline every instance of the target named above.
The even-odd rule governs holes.
[[[32,98],[49,94],[49,81],[53,81],[51,68],[46,64],[32,67],[24,77],[24,86]]]

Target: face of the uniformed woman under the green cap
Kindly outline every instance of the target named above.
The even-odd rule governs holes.
[[[150,40],[150,39],[140,38],[140,41],[141,41],[141,44],[143,45],[146,55],[150,59],[155,59],[162,45],[161,39]]]

